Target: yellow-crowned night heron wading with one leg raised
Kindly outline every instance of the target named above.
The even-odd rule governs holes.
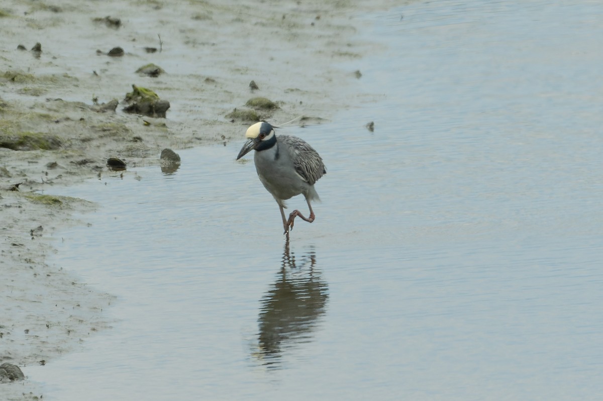
[[[253,161],[256,164],[257,176],[264,187],[274,196],[279,204],[280,216],[283,218],[285,235],[289,238],[289,228],[293,228],[295,216],[308,223],[314,222],[314,211],[310,201],[320,201],[314,183],[327,171],[317,151],[298,137],[276,136],[274,128],[267,122],[259,122],[247,128],[247,142],[236,157],[239,160],[251,149],[255,149]],[[306,219],[298,210],[285,219],[285,199],[303,194],[310,208],[310,217]]]

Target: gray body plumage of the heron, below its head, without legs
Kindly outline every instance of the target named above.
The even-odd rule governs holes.
[[[276,145],[256,151],[253,157],[257,176],[280,207],[285,199],[303,194],[308,201],[320,201],[314,183],[326,173],[320,155],[305,141],[278,135]]]

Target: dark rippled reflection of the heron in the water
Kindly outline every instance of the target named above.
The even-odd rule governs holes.
[[[268,367],[280,367],[283,350],[308,343],[326,311],[328,287],[315,266],[314,249],[296,258],[285,243],[281,269],[262,297],[258,318],[259,350],[254,354]]]

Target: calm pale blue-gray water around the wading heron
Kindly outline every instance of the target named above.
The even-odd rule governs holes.
[[[280,131],[328,172],[288,250],[251,158],[234,160],[245,127],[181,151],[172,175],[61,190],[102,207],[56,263],[116,294],[116,322],[30,379],[48,400],[599,398],[602,15],[432,1],[367,16],[390,51],[358,61],[358,108]]]

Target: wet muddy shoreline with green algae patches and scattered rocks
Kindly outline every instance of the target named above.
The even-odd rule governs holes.
[[[165,148],[241,141],[254,119],[328,122],[353,107],[350,93],[360,79],[355,61],[377,50],[358,33],[368,24],[362,15],[385,9],[387,2],[370,7],[318,1],[169,7],[159,1],[4,2],[0,362],[19,365],[25,376],[33,364],[52,368],[57,356],[111,326],[103,311],[115,296],[46,263],[60,231],[86,223],[74,214],[97,205],[46,196],[49,188],[56,193],[57,187],[108,174],[112,157],[128,166],[159,165]],[[161,71],[136,72],[150,63]],[[166,118],[125,113],[132,85],[169,101]],[[248,103],[253,98],[272,104]],[[0,384],[0,393],[9,400],[35,399],[43,385],[26,377]]]

